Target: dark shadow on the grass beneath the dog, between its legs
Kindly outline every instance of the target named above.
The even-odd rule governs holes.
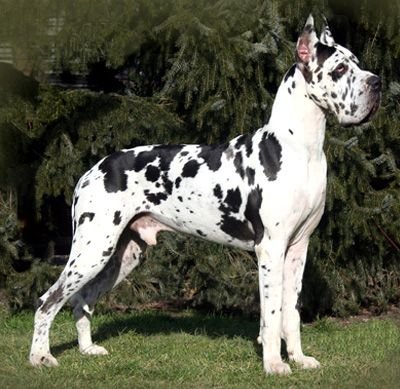
[[[97,327],[93,334],[94,342],[104,342],[121,334],[134,332],[136,334],[153,336],[174,333],[204,335],[210,338],[235,338],[252,340],[257,353],[261,356],[261,346],[256,342],[259,330],[257,320],[240,317],[212,316],[201,313],[169,313],[169,312],[139,312],[110,316],[106,323]],[[52,347],[55,356],[65,350],[77,346],[76,341],[63,343]]]

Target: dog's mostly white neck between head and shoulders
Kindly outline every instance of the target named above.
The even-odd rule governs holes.
[[[306,81],[296,65],[285,75],[272,106],[268,131],[282,141],[303,146],[310,158],[323,158],[326,118],[308,96]]]

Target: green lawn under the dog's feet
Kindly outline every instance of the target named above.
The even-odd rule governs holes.
[[[71,315],[61,312],[51,337],[56,369],[28,364],[33,314],[0,323],[1,388],[396,388],[400,382],[400,328],[389,319],[305,326],[304,350],[323,368],[292,366],[287,377],[263,373],[256,320],[191,311],[95,315],[94,339],[110,355],[85,357]]]

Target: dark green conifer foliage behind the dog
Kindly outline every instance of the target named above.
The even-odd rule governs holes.
[[[303,316],[400,300],[400,4],[394,1],[0,0],[0,301],[31,309],[71,241],[80,175],[147,143],[217,143],[268,121],[297,35],[322,14],[380,75],[362,127],[328,120],[328,197]],[[253,254],[165,233],[103,309],[178,302],[258,312]]]

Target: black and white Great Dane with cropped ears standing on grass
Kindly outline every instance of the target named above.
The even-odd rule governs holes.
[[[328,26],[318,39],[310,16],[298,39],[268,125],[220,145],[153,145],[115,152],[79,180],[73,244],[57,282],[40,298],[30,361],[56,366],[51,323],[74,306],[80,351],[93,344],[96,300],[123,280],[162,230],[254,250],[261,300],[259,341],[267,373],[287,374],[289,359],[319,367],[303,354],[297,300],[311,233],[323,212],[325,115],[344,125],[368,121],[380,101],[379,78],[336,44]]]

